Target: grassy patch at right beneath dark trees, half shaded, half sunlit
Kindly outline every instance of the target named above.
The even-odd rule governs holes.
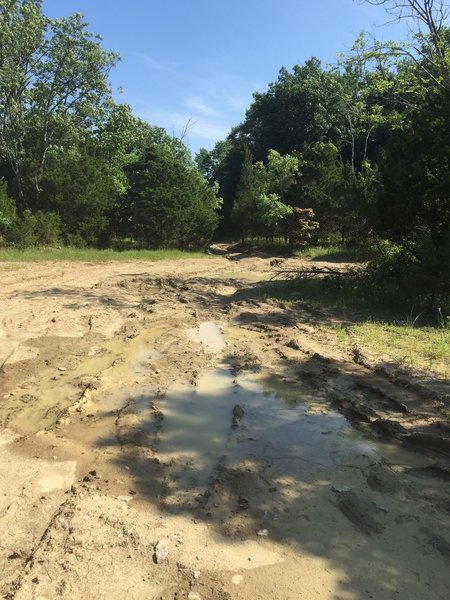
[[[338,343],[358,347],[371,360],[450,376],[447,312],[429,309],[417,314],[393,279],[382,281],[363,273],[304,277],[274,282],[267,291],[268,297],[323,311],[323,325],[333,328]]]

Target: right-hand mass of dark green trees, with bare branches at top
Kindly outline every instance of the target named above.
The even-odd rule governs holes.
[[[334,65],[283,67],[196,161],[219,182],[223,235],[364,247],[436,304],[450,294],[449,6],[365,1],[408,19],[412,39],[360,35]]]

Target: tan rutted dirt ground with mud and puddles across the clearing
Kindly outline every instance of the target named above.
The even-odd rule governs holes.
[[[214,251],[0,264],[2,598],[448,599],[449,382]]]

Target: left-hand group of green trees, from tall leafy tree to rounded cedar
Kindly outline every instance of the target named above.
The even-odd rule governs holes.
[[[113,101],[117,61],[81,15],[0,0],[0,242],[210,242],[217,187],[181,140]]]

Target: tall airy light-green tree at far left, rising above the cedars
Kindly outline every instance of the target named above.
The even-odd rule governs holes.
[[[48,19],[40,0],[2,3],[0,41],[0,159],[14,173],[18,207],[36,208],[48,161],[104,118],[117,56],[81,15]]]

